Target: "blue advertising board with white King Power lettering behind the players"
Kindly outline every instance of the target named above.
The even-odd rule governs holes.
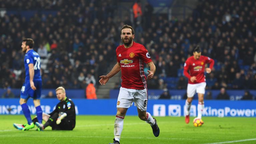
[[[57,99],[42,99],[43,112],[50,113],[55,109]],[[73,99],[77,115],[115,115],[116,103],[114,99],[87,100]],[[197,115],[197,100],[192,102],[191,116]],[[32,99],[28,100],[31,114],[36,114]],[[149,100],[147,111],[153,116],[184,116],[185,100]],[[0,99],[0,114],[23,114],[19,99]],[[137,115],[137,108],[133,105],[127,115]],[[203,116],[214,117],[256,117],[256,101],[205,100]]]

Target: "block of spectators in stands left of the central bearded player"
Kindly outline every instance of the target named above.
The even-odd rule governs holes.
[[[115,61],[120,22],[113,21],[116,3],[107,1],[1,1],[1,7],[18,10],[56,10],[56,15],[35,13],[0,18],[1,88],[20,88],[24,82],[21,40],[32,38],[41,57],[43,88],[85,89],[95,85]]]

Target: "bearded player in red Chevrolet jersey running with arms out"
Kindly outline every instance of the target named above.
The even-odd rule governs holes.
[[[124,25],[121,30],[123,45],[116,48],[117,63],[105,76],[100,76],[100,84],[105,85],[108,80],[121,70],[121,88],[117,99],[117,113],[114,124],[114,142],[120,144],[121,132],[123,130],[124,117],[127,109],[133,104],[137,106],[138,116],[152,127],[155,137],[159,136],[156,119],[146,112],[148,103],[147,83],[144,74],[144,63],[150,67],[147,79],[152,79],[156,67],[152,62],[147,49],[136,42],[133,42],[135,35],[131,26]]]

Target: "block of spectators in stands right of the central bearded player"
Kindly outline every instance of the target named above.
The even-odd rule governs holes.
[[[215,60],[212,73],[206,75],[207,89],[255,89],[256,3],[201,0],[195,11],[188,19],[171,23],[159,16],[140,40],[150,50],[159,75],[148,81],[149,88],[186,89],[183,64],[200,45],[202,55]]]

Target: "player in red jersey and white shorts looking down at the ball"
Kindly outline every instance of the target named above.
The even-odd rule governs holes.
[[[205,64],[209,63],[209,68],[205,68]],[[201,55],[199,46],[193,51],[193,56],[189,57],[184,64],[184,75],[188,78],[187,100],[185,103],[185,122],[189,123],[189,111],[191,102],[195,93],[198,94],[197,117],[202,118],[204,109],[204,93],[205,93],[205,75],[204,71],[210,73],[214,65],[214,60]],[[188,73],[189,71],[189,73]]]

